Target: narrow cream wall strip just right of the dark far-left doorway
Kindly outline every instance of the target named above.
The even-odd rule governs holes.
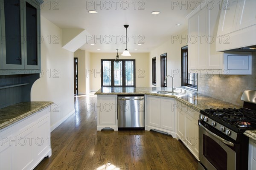
[[[80,49],[74,52],[74,57],[78,58],[78,94],[86,94],[85,54],[86,52]]]

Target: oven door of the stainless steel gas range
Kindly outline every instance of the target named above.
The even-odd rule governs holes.
[[[207,170],[235,170],[236,144],[224,139],[224,135],[205,124],[199,125],[199,160]]]

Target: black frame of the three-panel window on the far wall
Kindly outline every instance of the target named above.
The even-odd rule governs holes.
[[[111,85],[103,85],[103,62],[110,61],[111,62]],[[115,85],[114,83],[114,62],[115,59],[101,59],[101,87],[136,87],[136,68],[135,68],[135,59],[119,59],[122,61],[122,85]],[[126,71],[125,69],[125,62],[126,61],[133,61],[134,62],[134,85],[125,85],[125,78],[126,78]],[[124,76],[123,76],[124,75]]]

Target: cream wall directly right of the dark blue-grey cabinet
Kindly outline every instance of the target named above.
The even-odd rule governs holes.
[[[73,52],[61,47],[61,28],[41,16],[41,78],[32,86],[31,101],[52,101],[51,130],[75,112]],[[51,39],[49,39],[49,36]],[[54,36],[59,37],[53,43]],[[47,38],[48,37],[48,38]]]

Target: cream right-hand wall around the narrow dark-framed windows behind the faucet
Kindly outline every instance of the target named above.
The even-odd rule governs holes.
[[[185,38],[187,35],[187,30],[183,31],[181,34],[177,34],[178,37]],[[181,47],[187,45],[186,40],[172,40],[163,43],[159,47],[155,48],[150,52],[148,59],[149,63],[149,87],[155,87],[152,85],[152,58],[156,57],[156,70],[157,70],[157,87],[161,87],[160,81],[160,55],[167,53],[167,75],[172,75],[174,77],[174,85],[176,87],[181,86]],[[172,79],[169,77],[167,79],[167,87],[172,87]]]

